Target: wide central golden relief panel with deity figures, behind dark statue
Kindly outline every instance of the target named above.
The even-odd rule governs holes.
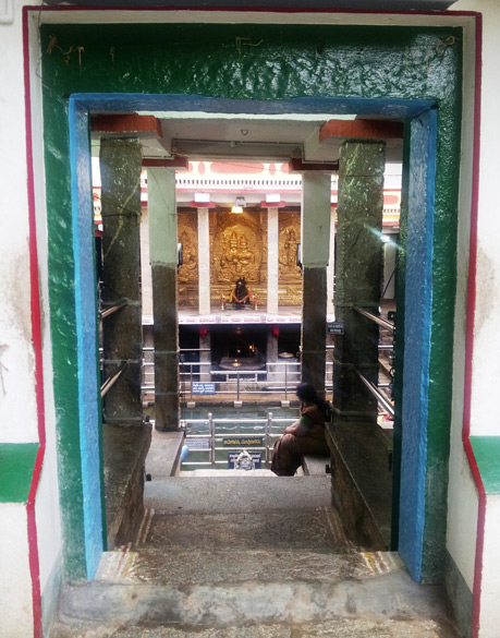
[[[259,302],[266,299],[267,217],[264,213],[210,217],[212,302],[228,297],[234,282],[244,278]]]

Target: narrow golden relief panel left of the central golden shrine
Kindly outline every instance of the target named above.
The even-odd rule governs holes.
[[[182,265],[178,270],[179,305],[198,306],[198,222],[196,213],[179,213],[178,241],[182,243]]]

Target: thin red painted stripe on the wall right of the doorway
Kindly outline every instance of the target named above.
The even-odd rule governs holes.
[[[483,16],[476,19],[476,63],[474,87],[474,141],[473,141],[473,174],[472,174],[472,202],[471,202],[471,237],[468,246],[468,280],[467,280],[467,322],[465,329],[465,374],[464,374],[464,413],[462,441],[467,460],[478,491],[478,514],[476,533],[476,556],[474,563],[473,611],[472,611],[472,638],[479,635],[480,625],[480,597],[483,587],[483,561],[485,549],[485,520],[486,520],[486,491],[480,477],[479,468],[471,444],[471,406],[472,406],[472,377],[474,354],[474,322],[476,306],[476,275],[477,275],[477,217],[479,201],[479,159],[480,159],[480,106],[481,106],[481,67],[483,67]]]

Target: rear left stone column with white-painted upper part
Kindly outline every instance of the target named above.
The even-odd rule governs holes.
[[[149,255],[157,430],[179,428],[178,213],[175,171],[148,169]]]

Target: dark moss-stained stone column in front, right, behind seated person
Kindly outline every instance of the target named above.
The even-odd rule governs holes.
[[[356,370],[378,384],[378,325],[354,306],[379,313],[382,273],[383,142],[349,141],[341,146],[337,226],[333,409],[344,418],[376,420],[377,401]]]

